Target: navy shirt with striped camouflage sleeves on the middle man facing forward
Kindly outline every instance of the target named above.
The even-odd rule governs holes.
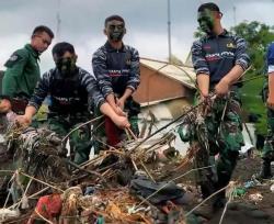
[[[139,54],[127,45],[115,49],[106,42],[93,54],[92,67],[104,98],[122,96],[126,88],[135,91],[140,82]]]

